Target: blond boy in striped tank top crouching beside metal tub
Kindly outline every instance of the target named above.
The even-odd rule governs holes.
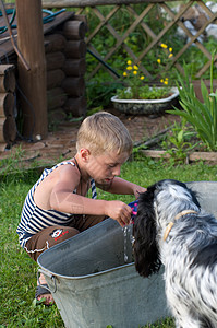
[[[97,200],[96,186],[111,194],[145,191],[123,180],[121,165],[132,151],[132,139],[118,117],[106,112],[87,117],[77,132],[73,159],[45,169],[26,196],[17,234],[21,246],[36,261],[45,250],[110,216],[121,226],[130,223],[131,208],[122,201]],[[92,199],[86,198],[92,190]],[[36,298],[53,302],[45,277]]]

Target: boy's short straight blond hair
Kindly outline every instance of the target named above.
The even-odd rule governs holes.
[[[77,151],[88,149],[94,155],[106,152],[132,152],[133,142],[126,127],[114,115],[98,112],[82,122],[77,132]]]

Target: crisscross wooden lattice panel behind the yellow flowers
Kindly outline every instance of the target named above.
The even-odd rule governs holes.
[[[73,7],[74,2],[77,4],[80,1],[71,1],[71,7]],[[103,68],[105,69],[107,65],[112,67],[112,58],[114,54],[123,54],[123,58],[129,57],[133,59],[134,63],[140,63],[141,70],[148,78],[154,79],[153,71],[149,69],[149,65],[147,65],[148,55],[154,54],[155,49],[165,39],[167,39],[168,35],[169,39],[172,42],[171,34],[173,31],[177,31],[178,27],[185,34],[186,42],[177,54],[173,54],[173,57],[167,65],[166,70],[170,70],[171,67],[176,67],[180,72],[183,72],[183,61],[186,56],[189,56],[189,51],[192,47],[196,47],[201,51],[201,56],[205,57],[203,61],[205,63],[203,67],[198,67],[198,70],[195,72],[195,78],[203,78],[203,74],[209,69],[212,54],[210,50],[206,48],[206,45],[202,43],[201,36],[204,34],[209,24],[217,23],[217,12],[212,12],[203,1],[183,1],[177,12],[171,5],[171,3],[176,4],[176,2],[172,1],[140,1],[140,3],[137,3],[138,1],[134,2],[132,0],[131,3],[129,3],[129,1],[123,1],[125,4],[121,3],[122,1],[118,1],[117,3],[119,4],[114,4],[114,1],[111,1],[112,4],[109,4],[109,1],[107,0],[105,5],[107,4],[108,11],[106,13],[101,7],[103,1],[100,1],[101,5],[96,5],[97,1],[94,0],[93,5],[91,0],[87,2],[89,7],[82,5],[79,9],[76,8],[76,13],[85,14],[87,16],[87,22],[89,13],[92,13],[92,17],[98,20],[97,26],[89,24],[89,31],[86,38],[87,48],[98,59],[98,61],[96,60],[95,68],[92,72],[89,72],[88,79],[96,75]],[[46,4],[46,0],[44,0],[44,3]],[[206,17],[205,15],[203,16],[203,24],[197,26],[197,30],[195,30],[196,32],[192,34],[191,28],[184,24],[183,17],[184,15],[188,15],[190,10],[195,8],[195,4],[197,12],[205,13]],[[136,5],[140,5],[140,11],[136,10]],[[116,15],[120,15],[123,12],[128,12],[129,17],[131,17],[131,22],[130,24],[123,24],[123,26],[119,26],[117,28],[117,25],[114,26],[112,21]],[[158,30],[156,32],[156,28],[148,24],[153,21],[153,19],[155,19],[155,16],[152,16],[153,13],[161,15],[160,20],[162,21],[162,25],[160,31]],[[156,22],[157,20],[158,17],[156,16]],[[191,23],[194,24],[193,20]],[[107,45],[106,49],[104,48],[103,51],[100,51],[97,49],[95,38],[97,35],[100,35],[100,33],[104,33],[105,35],[105,30],[107,31],[107,35],[112,36],[113,43],[110,46]],[[142,48],[138,52],[136,52],[129,43],[129,38],[133,33],[137,35],[142,33],[146,39],[144,48]],[[174,35],[174,38],[177,38],[177,35]],[[214,60],[217,60],[217,55],[215,55]],[[114,68],[116,71],[118,69],[118,67]],[[112,69],[108,70],[108,73],[114,79],[118,78],[118,74],[114,74]]]

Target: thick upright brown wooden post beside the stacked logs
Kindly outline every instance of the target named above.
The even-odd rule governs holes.
[[[19,59],[23,134],[33,138],[47,134],[46,60],[44,48],[41,0],[16,0],[17,45],[28,62],[26,70]]]

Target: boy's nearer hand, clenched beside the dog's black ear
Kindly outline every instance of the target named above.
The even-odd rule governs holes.
[[[111,200],[107,202],[106,215],[118,221],[123,227],[130,223],[132,209],[120,200]]]

